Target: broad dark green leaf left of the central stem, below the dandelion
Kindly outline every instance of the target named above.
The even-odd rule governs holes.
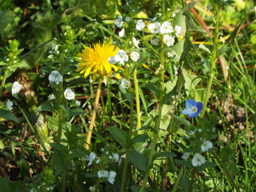
[[[114,139],[125,149],[127,148],[128,134],[118,127],[109,127],[109,132]]]

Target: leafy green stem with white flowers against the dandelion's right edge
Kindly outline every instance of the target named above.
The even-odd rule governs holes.
[[[127,45],[128,45],[128,41],[125,42],[125,49],[124,49],[125,52],[127,51]],[[126,74],[126,79],[128,81],[130,81],[130,75],[129,75],[127,63],[125,63],[125,74]],[[132,92],[131,86],[129,87],[128,90],[129,90],[129,92]],[[128,135],[128,145],[131,142],[132,129],[133,129],[133,100],[132,100],[132,102],[130,102],[130,126],[129,126],[129,135]],[[125,176],[126,176],[126,171],[127,171],[127,167],[128,167],[130,151],[131,151],[131,146],[129,146],[129,148],[126,149],[125,163],[124,163],[122,182],[121,182],[121,190],[120,190],[121,192],[123,192],[125,189]]]

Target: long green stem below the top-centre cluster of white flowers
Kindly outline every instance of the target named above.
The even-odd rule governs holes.
[[[158,118],[157,118],[157,121],[156,121],[156,127],[155,127],[155,131],[154,131],[154,134],[153,134],[153,141],[152,141],[152,145],[151,145],[151,150],[150,150],[150,155],[149,155],[149,160],[148,160],[148,166],[151,166],[152,163],[153,163],[153,155],[155,153],[155,148],[156,148],[156,142],[157,142],[157,139],[158,139],[158,131],[159,131],[159,127],[160,127],[160,122],[161,122],[161,116],[162,116],[162,109],[163,109],[163,83],[164,83],[164,56],[163,56],[163,53],[164,53],[164,42],[163,42],[163,35],[161,35],[161,50],[160,50],[160,62],[161,62],[161,65],[163,65],[163,69],[160,71],[160,77],[161,77],[161,84],[160,84],[160,98],[159,98],[159,108],[158,108]],[[144,179],[143,179],[143,183],[141,185],[141,188],[140,188],[140,192],[143,192],[144,191],[144,188],[147,184],[147,179],[149,177],[149,173],[150,173],[150,168],[148,168],[145,176],[144,176]]]

